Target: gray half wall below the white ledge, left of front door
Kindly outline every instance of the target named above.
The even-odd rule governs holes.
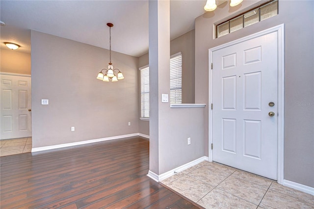
[[[159,117],[159,175],[205,156],[204,110],[169,107]]]

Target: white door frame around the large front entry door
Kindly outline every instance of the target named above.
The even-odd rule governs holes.
[[[212,104],[212,70],[210,68],[212,63],[212,53],[241,43],[253,38],[257,38],[272,32],[277,32],[278,37],[278,120],[277,120],[277,182],[284,183],[284,91],[285,91],[285,56],[284,56],[284,24],[271,27],[269,29],[254,33],[252,35],[228,42],[226,44],[209,49],[209,104]],[[212,162],[212,109],[209,109],[209,162]]]

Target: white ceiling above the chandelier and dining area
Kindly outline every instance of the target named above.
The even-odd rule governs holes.
[[[194,29],[196,17],[205,13],[206,0],[170,1],[170,38]],[[30,53],[30,30],[81,43],[140,56],[148,52],[148,0],[1,0],[3,42],[21,45]]]

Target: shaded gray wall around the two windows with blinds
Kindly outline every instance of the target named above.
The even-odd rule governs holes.
[[[195,65],[195,30],[191,30],[170,41],[170,55],[182,52],[182,103],[194,104],[194,65]],[[148,65],[148,53],[138,59],[138,66]],[[140,79],[140,76],[138,76]],[[140,94],[140,86],[138,90]],[[139,95],[140,102],[140,95]],[[139,110],[140,111],[140,107]],[[139,132],[149,135],[149,121],[139,121]]]

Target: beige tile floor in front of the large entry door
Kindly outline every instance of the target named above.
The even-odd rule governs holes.
[[[314,209],[313,195],[208,161],[161,183],[206,209]]]

